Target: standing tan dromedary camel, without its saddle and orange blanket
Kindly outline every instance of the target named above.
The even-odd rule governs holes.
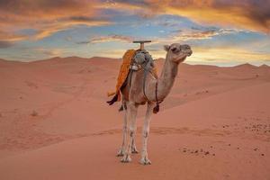
[[[143,139],[140,163],[143,165],[151,164],[151,161],[148,159],[147,142],[149,122],[155,103],[161,102],[166,98],[174,85],[179,63],[183,62],[186,57],[191,56],[193,53],[190,46],[180,45],[178,43],[174,43],[170,46],[166,45],[164,48],[166,50],[166,60],[159,78],[155,78],[150,73],[144,78],[144,70],[134,71],[132,76],[128,76],[128,79],[131,78],[131,83],[127,83],[127,85],[121,89],[122,104],[125,108],[123,108],[123,139],[118,156],[122,157],[121,162],[123,163],[131,161],[131,153],[138,153],[135,146],[137,110],[140,104],[148,103],[142,130]],[[144,80],[145,90],[143,91]]]

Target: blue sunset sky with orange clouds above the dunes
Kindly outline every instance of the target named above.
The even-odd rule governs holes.
[[[0,58],[121,58],[189,44],[190,64],[270,65],[270,0],[0,0]]]

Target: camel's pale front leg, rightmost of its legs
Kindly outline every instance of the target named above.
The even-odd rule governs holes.
[[[141,150],[141,158],[140,164],[142,165],[150,165],[151,161],[148,159],[148,136],[149,136],[149,125],[151,121],[151,115],[153,112],[154,103],[148,103],[148,109],[146,112],[145,120],[143,123],[142,130],[142,150]]]

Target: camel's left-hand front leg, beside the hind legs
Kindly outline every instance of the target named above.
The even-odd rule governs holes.
[[[128,108],[128,119],[127,119],[127,126],[129,127],[127,131],[127,137],[124,142],[124,155],[121,158],[121,162],[128,163],[131,161],[131,151],[132,147],[134,148],[134,139],[135,139],[135,133],[136,133],[136,116],[137,116],[137,110],[138,105],[135,103],[129,103],[127,105]]]

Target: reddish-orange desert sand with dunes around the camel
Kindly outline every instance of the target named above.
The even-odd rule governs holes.
[[[0,179],[270,179],[270,67],[181,64],[142,166],[116,157],[122,112],[105,101],[120,64],[0,59]]]

